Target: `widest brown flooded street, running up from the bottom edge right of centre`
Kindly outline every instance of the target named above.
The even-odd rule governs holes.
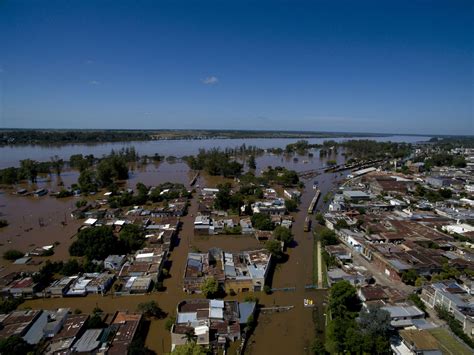
[[[336,187],[336,174],[318,176],[321,196]],[[309,354],[315,332],[313,309],[305,308],[303,300],[310,298],[315,301],[318,317],[323,317],[322,309],[326,292],[324,290],[308,290],[306,285],[313,284],[313,236],[303,232],[304,219],[311,199],[314,196],[313,181],[306,182],[301,198],[299,211],[294,215],[292,228],[296,247],[289,249],[289,260],[277,267],[273,277],[273,288],[295,288],[294,291],[276,291],[272,295],[261,298],[265,306],[294,306],[293,309],[271,315],[262,315],[255,335],[251,338],[248,348],[250,354]],[[323,204],[322,198],[317,210]],[[268,336],[271,334],[271,336]]]

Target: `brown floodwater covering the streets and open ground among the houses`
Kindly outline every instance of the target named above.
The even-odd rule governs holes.
[[[294,161],[293,156],[263,155],[257,158],[257,171],[269,165],[286,166],[296,171],[306,171],[320,169],[326,165],[327,159],[336,158],[338,162],[343,162],[342,155],[326,157],[298,157]],[[307,160],[307,163],[303,163]],[[131,178],[127,182],[128,186],[134,187],[137,182],[146,185],[156,185],[165,181],[182,182],[188,184],[192,172],[181,162],[170,164],[162,162],[160,164],[150,164],[146,167],[136,166],[131,173]],[[294,287],[295,291],[276,291],[271,295],[263,292],[256,296],[265,307],[272,306],[294,306],[293,309],[273,314],[261,314],[259,326],[251,337],[247,353],[250,354],[303,354],[308,353],[308,349],[315,337],[313,322],[313,310],[303,307],[303,299],[311,298],[317,306],[317,317],[323,317],[322,302],[325,299],[325,291],[305,290],[304,286],[312,283],[312,260],[313,260],[313,239],[311,233],[303,232],[303,222],[306,217],[306,210],[313,197],[314,190],[312,184],[318,180],[322,196],[326,192],[336,187],[335,181],[340,174],[322,174],[306,181],[306,188],[302,196],[300,211],[294,213],[295,224],[293,233],[296,246],[288,249],[288,261],[278,265],[274,275],[272,286],[274,288]],[[77,179],[77,172],[66,171],[62,179],[67,186]],[[203,174],[197,181],[201,187],[216,186],[222,182],[233,182],[231,179],[221,177],[210,177]],[[41,180],[38,186],[50,186],[53,189],[57,184],[53,175]],[[187,185],[188,186],[188,185]],[[31,189],[31,187],[30,187]],[[98,194],[97,196],[101,196]],[[10,248],[27,251],[34,246],[52,244],[60,242],[55,250],[55,255],[51,259],[65,260],[68,258],[67,249],[71,243],[80,221],[70,218],[70,211],[74,209],[76,198],[56,199],[49,196],[34,198],[20,197],[11,194],[11,191],[4,191],[0,195],[0,213],[4,215],[10,225],[0,231],[0,252]],[[322,204],[321,202],[318,206]],[[171,314],[176,312],[177,303],[189,297],[183,292],[183,274],[187,253],[192,246],[207,250],[211,247],[219,247],[228,251],[242,251],[264,247],[255,238],[250,236],[209,236],[194,237],[193,220],[197,212],[197,197],[191,201],[189,213],[183,217],[183,229],[179,235],[179,244],[173,249],[170,255],[170,277],[164,281],[166,290],[143,296],[96,296],[90,295],[84,298],[61,298],[61,299],[36,299],[26,301],[22,307],[53,309],[57,307],[79,308],[83,312],[91,312],[96,306],[106,312],[115,310],[136,309],[138,303],[146,300],[156,300],[161,308]],[[44,227],[39,226],[39,221],[43,221]],[[63,226],[61,222],[66,222]],[[14,270],[32,270],[38,266],[16,266],[2,260],[5,267],[2,275]],[[229,299],[243,300],[246,294],[240,294]],[[322,329],[319,329],[322,330]],[[161,354],[170,349],[170,336],[164,328],[164,320],[154,320],[151,323],[150,331],[146,340],[146,345]]]

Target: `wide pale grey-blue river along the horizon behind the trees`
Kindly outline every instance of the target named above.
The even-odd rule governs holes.
[[[424,136],[384,136],[384,137],[356,137],[356,138],[309,138],[311,144],[323,143],[327,140],[337,142],[348,139],[372,139],[377,141],[392,141],[415,143],[430,139]],[[96,157],[109,154],[112,149],[120,150],[124,147],[135,147],[141,155],[154,155],[155,153],[165,156],[182,157],[184,155],[194,155],[199,149],[211,148],[235,148],[242,144],[256,146],[259,148],[284,148],[287,144],[294,143],[296,138],[252,138],[252,139],[201,139],[201,140],[156,140],[138,142],[115,142],[100,144],[66,144],[66,145],[12,145],[0,147],[0,168],[18,166],[22,159],[33,159],[37,161],[48,161],[57,155],[62,159],[69,159],[73,154],[93,154]]]

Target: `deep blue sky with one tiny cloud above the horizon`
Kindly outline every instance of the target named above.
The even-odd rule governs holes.
[[[474,134],[472,1],[1,1],[0,125]]]

